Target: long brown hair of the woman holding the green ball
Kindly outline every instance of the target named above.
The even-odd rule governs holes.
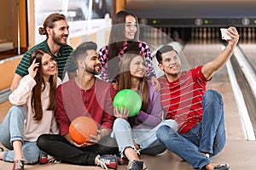
[[[130,65],[131,65],[131,60],[137,56],[141,56],[143,58],[143,56],[139,54],[137,51],[129,51],[122,58],[121,64],[120,64],[120,70],[119,70],[120,72],[119,73],[119,90],[131,89]],[[139,91],[143,101],[141,110],[147,112],[148,101],[149,101],[149,88],[148,88],[148,81],[146,77],[140,78],[140,83],[137,90]]]

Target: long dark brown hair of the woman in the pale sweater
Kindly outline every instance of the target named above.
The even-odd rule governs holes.
[[[33,118],[37,121],[41,121],[43,117],[43,107],[41,101],[41,94],[45,89],[45,82],[42,73],[42,57],[44,54],[49,54],[49,52],[45,51],[42,48],[35,49],[32,51],[29,65],[32,65],[32,61],[36,59],[36,63],[39,63],[38,73],[36,77],[34,77],[37,84],[32,88],[32,99],[31,106],[32,111],[34,113]],[[51,54],[49,54],[51,56]],[[55,102],[55,91],[57,87],[57,75],[51,75],[49,77],[49,106],[47,111],[55,111],[56,102]]]

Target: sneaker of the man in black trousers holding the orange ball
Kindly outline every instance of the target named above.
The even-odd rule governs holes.
[[[116,169],[117,168],[117,159],[113,155],[102,155],[98,158],[98,166],[100,165],[104,169]]]

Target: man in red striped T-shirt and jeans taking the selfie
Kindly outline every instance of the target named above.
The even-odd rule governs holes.
[[[157,138],[177,156],[195,169],[227,170],[228,164],[215,164],[211,157],[224,149],[224,105],[221,94],[207,90],[207,81],[230,59],[239,40],[235,27],[228,29],[231,39],[218,56],[206,65],[189,71],[181,70],[181,60],[172,46],[156,53],[165,75],[159,78],[161,105],[166,119],[174,119],[177,127],[161,126]]]

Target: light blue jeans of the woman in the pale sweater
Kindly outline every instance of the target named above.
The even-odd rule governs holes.
[[[28,163],[38,161],[40,150],[37,142],[23,141],[23,128],[25,120],[25,111],[22,106],[13,106],[3,119],[0,125],[0,143],[8,150],[3,153],[3,161],[14,161],[15,154],[12,146],[13,141],[19,140],[22,144],[23,158]]]

